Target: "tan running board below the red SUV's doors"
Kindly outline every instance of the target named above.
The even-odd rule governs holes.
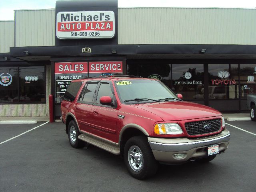
[[[96,147],[99,147],[99,148],[102,148],[112,154],[115,154],[115,155],[119,155],[120,154],[120,149],[118,146],[115,146],[115,145],[112,145],[108,142],[104,142],[102,140],[99,140],[97,138],[94,138],[92,136],[88,136],[88,135],[85,135],[85,134],[80,134],[78,136],[78,139],[82,140],[82,141],[85,141],[87,143],[90,143]]]

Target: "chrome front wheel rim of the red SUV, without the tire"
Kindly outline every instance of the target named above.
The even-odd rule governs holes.
[[[143,167],[143,154],[138,146],[133,145],[128,150],[128,162],[134,171],[140,171]]]

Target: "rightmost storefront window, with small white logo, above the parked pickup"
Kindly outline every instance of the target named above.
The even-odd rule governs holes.
[[[240,64],[240,92],[242,99],[256,94],[256,64]]]

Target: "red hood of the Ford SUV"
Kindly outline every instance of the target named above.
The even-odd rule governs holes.
[[[133,106],[154,113],[164,121],[221,116],[221,113],[213,108],[192,102],[173,101]]]

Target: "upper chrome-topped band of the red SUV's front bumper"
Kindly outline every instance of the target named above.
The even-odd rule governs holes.
[[[174,151],[188,151],[193,148],[199,148],[199,147],[204,147],[212,144],[229,142],[229,140],[230,140],[230,133],[218,138],[202,140],[202,141],[192,141],[192,142],[183,142],[183,143],[158,143],[158,142],[149,141],[149,144],[152,150],[174,152]]]

